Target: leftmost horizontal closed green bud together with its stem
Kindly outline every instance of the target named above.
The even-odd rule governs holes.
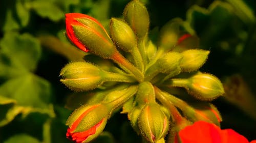
[[[111,73],[86,63],[75,62],[66,65],[60,72],[60,81],[75,91],[93,90],[105,81],[134,82],[129,76]]]

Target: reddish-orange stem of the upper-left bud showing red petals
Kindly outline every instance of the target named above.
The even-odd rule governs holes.
[[[134,65],[128,62],[118,51],[116,51],[112,57],[115,63],[117,63],[123,70],[126,72],[132,73],[133,76],[137,79],[137,81],[142,82],[144,79],[144,75],[141,71],[139,71]]]

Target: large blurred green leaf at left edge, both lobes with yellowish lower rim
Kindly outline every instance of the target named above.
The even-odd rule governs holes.
[[[39,41],[29,34],[8,32],[0,41],[0,126],[11,122],[19,113],[46,113],[54,117],[51,84],[31,71],[41,55]]]

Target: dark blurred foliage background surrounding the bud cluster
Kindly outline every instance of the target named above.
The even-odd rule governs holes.
[[[0,1],[0,142],[71,142],[67,118],[73,92],[59,82],[59,71],[86,53],[65,37],[65,13],[98,19],[107,29],[129,0]],[[152,37],[180,17],[210,50],[200,69],[219,77],[225,96],[213,101],[221,128],[256,139],[256,2],[242,0],[143,0]],[[94,142],[140,142],[126,115],[116,113]]]

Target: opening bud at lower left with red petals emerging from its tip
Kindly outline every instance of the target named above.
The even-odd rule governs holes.
[[[67,120],[67,138],[75,142],[89,142],[104,129],[111,108],[106,104],[81,106]]]

